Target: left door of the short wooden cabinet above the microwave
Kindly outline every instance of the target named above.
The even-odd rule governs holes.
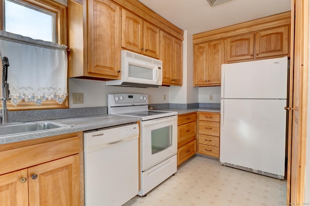
[[[143,20],[122,9],[122,47],[143,52]]]

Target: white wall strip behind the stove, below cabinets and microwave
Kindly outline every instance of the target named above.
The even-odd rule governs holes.
[[[69,78],[69,107],[108,106],[108,94],[142,93],[149,96],[149,103],[169,103],[169,87],[159,88],[129,88],[106,86],[105,81]],[[83,93],[84,103],[73,104],[72,93]],[[166,100],[164,100],[166,95]]]

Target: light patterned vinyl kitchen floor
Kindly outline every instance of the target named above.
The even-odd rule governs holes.
[[[124,206],[279,206],[286,205],[286,180],[223,166],[194,156],[146,197]]]

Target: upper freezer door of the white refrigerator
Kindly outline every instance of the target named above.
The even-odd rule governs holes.
[[[287,57],[222,65],[221,98],[286,99]]]

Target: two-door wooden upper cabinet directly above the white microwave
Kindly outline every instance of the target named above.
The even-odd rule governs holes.
[[[122,9],[122,47],[159,59],[159,29]]]

